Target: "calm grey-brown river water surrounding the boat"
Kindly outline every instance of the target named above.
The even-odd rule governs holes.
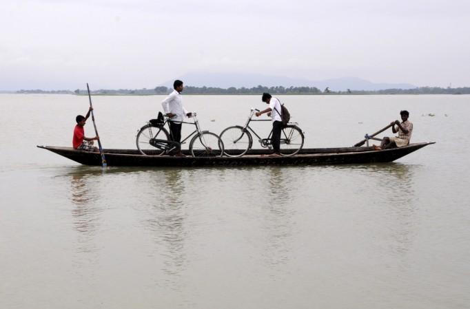
[[[88,97],[0,94],[0,308],[469,308],[470,96],[279,98],[305,147],[400,109],[437,143],[389,164],[103,171],[36,148],[70,146]],[[95,96],[103,147],[134,149],[162,99]],[[183,103],[217,133],[265,107]]]

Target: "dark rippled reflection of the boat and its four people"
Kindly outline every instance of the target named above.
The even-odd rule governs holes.
[[[188,218],[188,206],[203,203],[201,197],[204,197],[204,194],[201,192],[196,195],[198,201],[192,202],[191,199],[194,191],[200,191],[201,186],[214,188],[214,182],[229,182],[223,184],[222,188],[230,187],[247,193],[252,192],[254,185],[259,186],[257,191],[259,189],[262,195],[258,202],[259,212],[254,226],[260,228],[263,242],[257,246],[263,249],[262,258],[265,264],[274,270],[272,274],[280,277],[295,255],[295,235],[299,231],[296,226],[297,206],[303,199],[302,191],[312,189],[314,184],[320,181],[331,186],[329,189],[333,195],[339,194],[342,189],[346,189],[345,193],[348,193],[348,189],[353,190],[348,193],[351,194],[350,197],[345,196],[344,199],[338,199],[338,202],[347,202],[347,198],[351,198],[366,207],[375,206],[374,209],[369,209],[368,214],[372,217],[378,216],[374,217],[378,220],[371,223],[372,231],[380,231],[383,235],[381,239],[387,239],[377,246],[389,255],[405,257],[416,239],[417,193],[414,182],[416,171],[420,168],[416,165],[396,163],[338,167],[245,168],[243,173],[239,173],[239,169],[111,169],[106,171],[105,175],[125,173],[125,179],[130,180],[130,171],[134,172],[132,177],[136,178],[134,181],[138,183],[135,197],[132,197],[132,202],[135,201],[137,205],[134,206],[134,211],[145,212],[138,214],[140,226],[145,228],[151,242],[154,242],[154,248],[150,246],[151,255],[154,255],[156,262],[158,261],[156,264],[166,274],[163,278],[159,277],[159,283],[165,280],[170,288],[180,290],[183,282],[181,274],[188,267],[188,254],[192,252],[194,245],[190,243],[194,238],[188,235],[188,231],[195,231],[194,222],[198,225],[207,223],[199,222],[195,217]],[[74,228],[81,234],[79,244],[82,244],[79,251],[93,250],[92,237],[96,226],[99,226],[101,215],[101,209],[96,208],[96,199],[99,200],[100,194],[95,188],[96,182],[102,179],[101,173],[101,169],[80,167],[67,176],[71,184],[70,201],[74,205]],[[235,183],[232,179],[234,175],[238,178],[233,179],[243,181]],[[313,182],[307,184],[306,180],[309,179]],[[356,190],[361,190],[357,196],[354,195]],[[222,198],[231,196],[223,194],[221,192]],[[309,195],[314,194],[314,191],[309,192]],[[322,194],[330,196],[329,191]],[[252,195],[247,194],[245,200],[241,198],[241,206],[249,202],[250,196]],[[220,200],[220,197],[218,199]],[[378,227],[378,224],[384,225]]]

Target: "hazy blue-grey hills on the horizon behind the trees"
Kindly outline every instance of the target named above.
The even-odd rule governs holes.
[[[407,83],[372,83],[357,77],[331,78],[322,81],[310,81],[305,78],[290,78],[287,76],[270,76],[263,74],[241,74],[241,73],[188,73],[176,77],[185,82],[185,85],[194,87],[256,87],[263,85],[266,87],[284,86],[284,87],[317,87],[325,89],[329,87],[332,91],[365,90],[375,91],[382,89],[413,89],[415,85]],[[161,84],[166,87],[172,87],[173,81],[167,81]]]

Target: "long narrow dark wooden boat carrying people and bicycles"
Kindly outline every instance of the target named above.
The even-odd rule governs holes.
[[[311,148],[302,149],[296,156],[269,157],[267,149],[252,149],[240,158],[216,157],[193,158],[183,150],[186,157],[144,156],[134,149],[103,149],[108,166],[114,167],[207,167],[244,165],[298,165],[298,164],[364,164],[392,162],[434,142],[420,142],[406,147],[376,151],[372,147]],[[101,166],[99,152],[89,152],[72,147],[37,146],[65,158],[86,165]]]

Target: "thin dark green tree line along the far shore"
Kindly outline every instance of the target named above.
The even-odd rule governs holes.
[[[92,91],[92,94],[101,95],[152,95],[152,94],[169,94],[172,92],[171,88],[165,86],[155,87],[154,89],[99,89]],[[323,91],[317,87],[265,87],[258,85],[252,88],[218,88],[218,87],[194,87],[186,86],[185,94],[263,94],[263,92],[269,92],[270,94],[303,94],[303,95],[314,95],[314,94],[470,94],[470,87],[460,88],[441,88],[441,87],[417,87],[414,89],[383,89],[375,91],[366,90],[350,90],[346,91],[334,91],[326,87]],[[41,89],[31,90],[19,90],[18,94],[87,94],[86,90],[76,89],[75,91],[70,90],[52,90],[44,91]]]

